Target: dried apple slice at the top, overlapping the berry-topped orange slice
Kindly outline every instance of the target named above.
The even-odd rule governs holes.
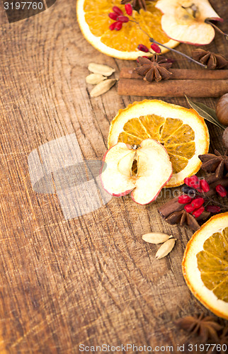
[[[207,45],[215,37],[206,18],[220,18],[207,0],[159,0],[156,3],[164,15],[161,27],[173,40],[193,45]]]

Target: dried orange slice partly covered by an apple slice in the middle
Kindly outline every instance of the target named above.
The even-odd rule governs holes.
[[[193,109],[159,100],[135,102],[119,110],[110,125],[108,148],[117,142],[140,144],[152,138],[166,148],[173,177],[166,184],[176,187],[201,166],[198,155],[209,148],[209,133],[203,118]]]

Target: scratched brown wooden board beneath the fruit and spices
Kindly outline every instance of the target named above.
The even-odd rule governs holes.
[[[227,0],[210,2],[220,16],[228,13]],[[101,159],[118,108],[141,98],[118,96],[115,86],[91,99],[87,65],[109,64],[118,77],[121,67],[135,63],[106,57],[84,40],[75,0],[57,0],[12,24],[1,3],[0,21],[0,352],[79,353],[80,343],[134,343],[173,346],[175,353],[190,341],[175,319],[207,313],[181,273],[192,232],[162,221],[161,198],[147,206],[113,198],[65,220],[57,195],[35,193],[28,173],[30,152],[72,133],[85,159]],[[207,48],[228,55],[220,35]],[[190,54],[193,47],[178,49]],[[195,66],[178,58],[175,67]],[[188,106],[184,98],[166,101]],[[217,100],[198,101],[214,108]],[[220,130],[208,126],[210,148],[220,149]],[[154,261],[157,246],[141,238],[150,231],[178,239],[170,256]]]

